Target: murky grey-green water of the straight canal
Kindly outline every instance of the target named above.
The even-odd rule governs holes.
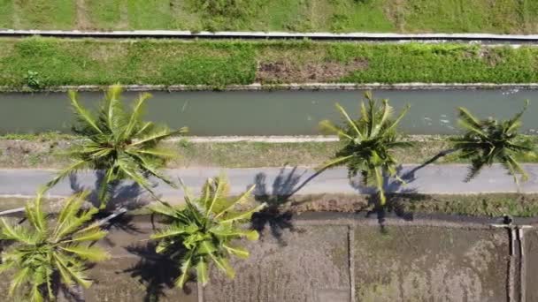
[[[309,135],[319,134],[319,121],[338,122],[334,109],[339,102],[354,117],[363,91],[198,91],[153,92],[147,102],[146,119],[176,128],[187,125],[191,135]],[[138,93],[127,92],[133,100]],[[457,132],[457,107],[464,106],[478,117],[507,118],[530,101],[523,117],[523,130],[538,132],[538,90],[379,90],[375,97],[411,110],[400,129],[409,134]],[[81,102],[95,107],[103,93],[81,93]],[[73,124],[66,93],[0,94],[0,132],[69,132]]]

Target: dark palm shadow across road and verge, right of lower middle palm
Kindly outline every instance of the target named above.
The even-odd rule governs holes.
[[[282,239],[283,230],[295,231],[292,223],[293,213],[285,209],[285,206],[290,201],[291,196],[298,191],[298,188],[311,180],[309,177],[301,185],[299,182],[304,173],[298,173],[297,167],[287,170],[286,167],[281,168],[279,175],[274,178],[271,192],[267,189],[265,173],[258,173],[254,177],[254,198],[260,203],[265,202],[265,207],[260,212],[252,215],[252,228],[257,230],[260,236],[263,236],[263,230],[268,226],[271,234],[276,238],[280,245],[287,245]]]

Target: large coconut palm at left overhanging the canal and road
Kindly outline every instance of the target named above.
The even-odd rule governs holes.
[[[109,88],[96,115],[81,106],[76,92],[69,92],[77,117],[73,132],[81,140],[70,152],[74,162],[58,173],[47,185],[56,185],[62,178],[78,170],[102,170],[104,178],[98,188],[101,208],[109,199],[111,184],[122,179],[134,180],[153,193],[148,177],[157,177],[168,185],[173,183],[159,172],[167,159],[174,156],[171,150],[158,147],[159,142],[187,132],[187,128],[170,131],[163,126],[142,121],[144,102],[150,94],[140,94],[132,110],[121,102],[119,85]]]

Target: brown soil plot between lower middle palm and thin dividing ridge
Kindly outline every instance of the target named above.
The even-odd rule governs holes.
[[[249,244],[248,260],[234,260],[234,280],[212,270],[204,301],[348,302],[347,232],[345,226],[307,226],[275,238],[265,230],[260,242]]]

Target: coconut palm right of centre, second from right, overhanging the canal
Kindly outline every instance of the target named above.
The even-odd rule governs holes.
[[[409,147],[411,143],[400,140],[396,127],[409,109],[400,112],[395,120],[392,119],[394,109],[388,105],[388,100],[373,99],[371,93],[365,93],[365,102],[361,103],[360,118],[353,120],[345,109],[336,104],[345,119],[346,125],[334,125],[328,120],[320,123],[322,130],[338,135],[343,143],[342,149],[336,152],[332,160],[326,162],[319,170],[326,170],[345,165],[349,177],[360,173],[364,185],[374,185],[379,194],[380,205],[386,198],[383,190],[383,177],[396,177],[403,182],[396,172],[398,162],[392,155],[396,147]]]

